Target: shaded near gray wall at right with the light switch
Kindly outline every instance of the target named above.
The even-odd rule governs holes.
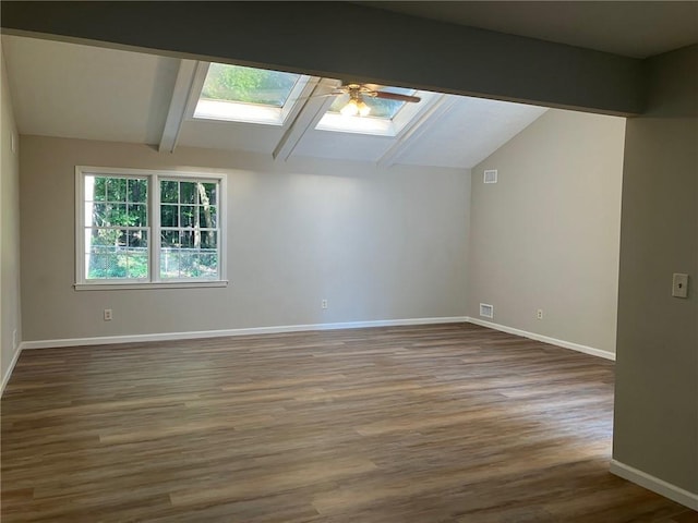
[[[626,130],[613,457],[698,494],[698,46],[648,73]]]

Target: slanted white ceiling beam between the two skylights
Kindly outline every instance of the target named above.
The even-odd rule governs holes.
[[[332,105],[333,97],[326,95],[335,90],[338,85],[339,82],[332,78],[322,78],[320,82],[315,82],[312,92],[304,95],[308,98],[297,113],[293,122],[276,145],[273,153],[275,160],[286,161],[289,159],[293,149],[296,149],[296,146],[308,130],[317,125],[320,119]]]

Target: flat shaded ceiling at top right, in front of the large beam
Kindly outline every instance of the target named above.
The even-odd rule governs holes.
[[[648,58],[698,41],[695,0],[353,3],[633,58]]]

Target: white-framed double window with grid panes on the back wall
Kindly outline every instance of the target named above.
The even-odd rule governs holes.
[[[76,289],[225,284],[225,179],[76,168]]]

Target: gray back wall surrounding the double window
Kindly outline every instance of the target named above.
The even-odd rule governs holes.
[[[465,315],[468,171],[22,139],[25,340]],[[76,165],[226,170],[229,287],[73,290]]]

